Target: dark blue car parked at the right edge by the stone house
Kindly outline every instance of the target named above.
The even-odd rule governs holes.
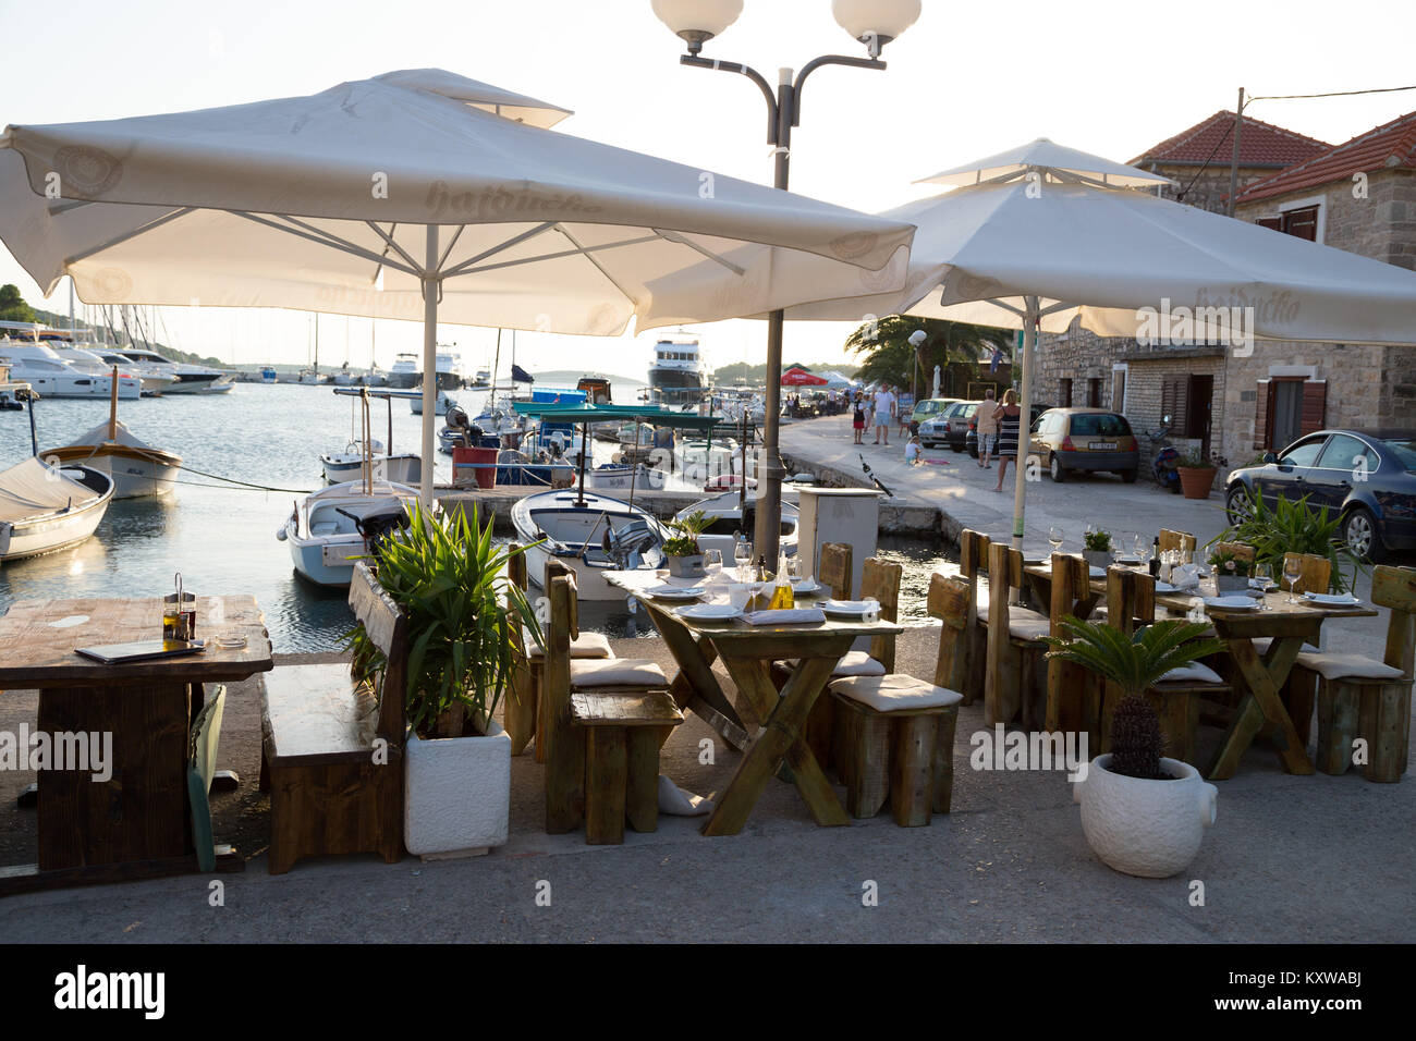
[[[1328,429],[1269,452],[1231,472],[1225,511],[1235,523],[1250,493],[1267,506],[1307,499],[1342,517],[1342,540],[1358,557],[1381,562],[1416,548],[1416,429]]]

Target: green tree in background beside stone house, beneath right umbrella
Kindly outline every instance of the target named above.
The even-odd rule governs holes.
[[[925,341],[918,348],[909,343],[916,330],[925,331]],[[922,392],[933,380],[935,365],[973,363],[983,354],[991,354],[994,347],[1011,357],[1012,343],[1014,334],[1005,329],[944,319],[916,319],[909,314],[888,314],[877,322],[867,322],[845,339],[848,350],[865,354],[858,378],[910,387],[918,370]]]

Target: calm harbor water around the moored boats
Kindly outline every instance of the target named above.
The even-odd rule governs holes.
[[[573,385],[555,382],[554,385]],[[615,382],[616,402],[634,402],[643,384]],[[455,391],[476,415],[487,391]],[[69,445],[108,418],[108,401],[44,399],[35,405],[41,455]],[[360,436],[358,399],[330,387],[236,384],[224,395],[167,395],[119,402],[119,418],[143,440],[183,456],[174,493],[115,500],[93,538],[47,557],[0,567],[0,610],[21,599],[160,596],[181,572],[198,595],[248,593],[266,618],[276,653],[333,650],[353,625],[341,589],[314,586],[295,574],[276,531],[296,500],[323,487],[320,453]],[[371,402],[372,438],[388,442],[388,405]],[[442,419],[438,419],[442,425]],[[406,401],[392,402],[392,450],[418,452],[421,418]],[[613,446],[596,445],[596,459]],[[0,466],[30,455],[24,412],[0,412]],[[191,470],[261,489],[238,487]],[[452,463],[436,456],[436,480],[450,482]],[[273,489],[273,490],[270,490]],[[881,554],[905,564],[903,615],[923,619],[935,547],[882,540]],[[903,619],[902,619],[903,620]],[[613,636],[643,635],[647,622],[623,605],[595,605],[582,623]]]

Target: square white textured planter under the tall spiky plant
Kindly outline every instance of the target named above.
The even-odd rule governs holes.
[[[507,841],[511,738],[496,721],[484,738],[419,741],[404,749],[404,844],[423,860],[477,857]]]

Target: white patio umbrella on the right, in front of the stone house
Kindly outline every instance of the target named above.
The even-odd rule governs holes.
[[[1416,273],[1116,187],[1164,181],[1144,170],[1038,140],[925,181],[966,187],[881,214],[919,225],[902,292],[789,307],[787,317],[909,313],[1022,329],[1024,416],[1037,330],[1065,331],[1076,317],[1100,336],[1165,336],[1165,314],[1188,309],[1222,336],[1416,341]],[[1018,467],[1015,547],[1024,489]]]

